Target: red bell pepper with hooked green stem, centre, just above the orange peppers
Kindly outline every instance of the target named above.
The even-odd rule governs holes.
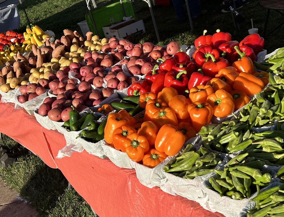
[[[165,77],[165,87],[172,87],[178,91],[179,94],[183,93],[183,90],[188,85],[188,78],[186,76],[187,72],[186,70],[181,72],[167,72]]]

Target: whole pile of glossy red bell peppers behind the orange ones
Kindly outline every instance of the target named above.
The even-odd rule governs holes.
[[[254,71],[253,61],[262,51],[264,39],[258,34],[246,36],[241,42],[232,41],[230,33],[220,32],[199,36],[194,44],[196,51],[193,59],[179,51],[167,60],[161,58],[154,69],[145,76],[145,81],[133,83],[128,95],[138,96],[145,92],[159,93],[164,87],[173,87],[179,94],[186,94],[188,89],[205,85],[215,78],[218,72],[233,65],[238,71]]]

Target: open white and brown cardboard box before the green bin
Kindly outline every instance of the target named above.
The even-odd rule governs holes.
[[[145,33],[143,20],[127,20],[108,27],[103,27],[106,38],[125,38],[133,34]]]

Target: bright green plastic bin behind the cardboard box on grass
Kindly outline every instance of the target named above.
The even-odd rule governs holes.
[[[132,16],[132,18],[135,19],[132,4],[127,2],[126,0],[122,2],[123,2],[126,16],[127,17]],[[122,7],[119,1],[116,3],[110,4],[110,5],[107,5],[105,7],[102,7],[100,9],[96,9],[92,12],[92,14],[96,22],[96,26],[99,31],[98,35],[100,36],[100,38],[104,38],[104,32],[103,32],[102,27],[111,25],[112,23],[122,21],[124,17]],[[90,28],[90,31],[95,33],[96,31],[95,31],[95,27],[92,22],[91,15],[88,13],[86,14],[85,17],[86,17],[88,26]]]

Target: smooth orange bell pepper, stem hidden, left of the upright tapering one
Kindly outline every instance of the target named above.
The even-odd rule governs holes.
[[[189,104],[191,104],[190,99],[187,99],[183,95],[176,95],[170,100],[169,107],[175,112],[177,118],[186,119],[189,118],[189,113],[187,110]]]

